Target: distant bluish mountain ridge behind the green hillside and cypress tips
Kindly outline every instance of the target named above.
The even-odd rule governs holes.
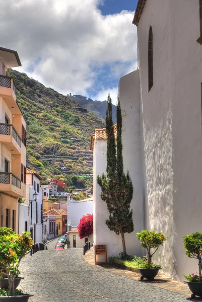
[[[98,117],[105,119],[107,101],[93,101],[92,99],[87,99],[86,97],[80,95],[68,95],[68,98],[80,104],[83,108],[86,108],[91,113],[94,113]],[[114,123],[116,123],[116,106],[112,105],[112,117]]]

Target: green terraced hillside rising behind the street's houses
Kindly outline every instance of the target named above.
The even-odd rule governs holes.
[[[44,179],[67,182],[73,174],[92,174],[90,138],[95,128],[105,126],[104,121],[26,73],[8,69],[7,75],[14,78],[17,102],[27,120],[27,167]],[[73,182],[77,185],[75,179]]]

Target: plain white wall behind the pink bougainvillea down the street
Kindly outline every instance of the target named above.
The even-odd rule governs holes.
[[[62,204],[60,205],[60,208],[63,208]],[[82,216],[88,213],[93,213],[93,200],[81,202],[68,199],[68,219],[71,220],[72,226],[77,226]]]

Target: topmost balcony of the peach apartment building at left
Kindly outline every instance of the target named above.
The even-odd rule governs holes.
[[[4,98],[11,112],[12,108],[16,108],[16,85],[14,80],[2,74],[0,75],[0,97]]]

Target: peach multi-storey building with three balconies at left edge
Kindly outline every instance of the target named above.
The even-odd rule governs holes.
[[[16,102],[16,85],[6,77],[21,66],[18,53],[0,47],[0,226],[18,232],[18,198],[25,197],[26,121]]]

